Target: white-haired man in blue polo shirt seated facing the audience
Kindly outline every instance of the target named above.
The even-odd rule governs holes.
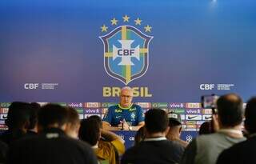
[[[110,106],[103,118],[103,128],[108,130],[138,130],[144,126],[142,108],[132,103],[133,90],[129,86],[122,88],[120,103]]]

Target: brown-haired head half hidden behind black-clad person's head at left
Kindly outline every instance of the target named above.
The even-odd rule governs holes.
[[[65,132],[71,138],[78,138],[78,130],[80,127],[80,120],[77,110],[72,107],[67,107],[68,110],[68,121]]]

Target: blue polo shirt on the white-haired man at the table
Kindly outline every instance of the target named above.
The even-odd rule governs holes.
[[[141,106],[135,104],[127,108],[122,108],[120,104],[110,106],[103,121],[109,122],[111,126],[118,126],[123,119],[130,123],[131,126],[138,126],[139,122],[144,122]]]

